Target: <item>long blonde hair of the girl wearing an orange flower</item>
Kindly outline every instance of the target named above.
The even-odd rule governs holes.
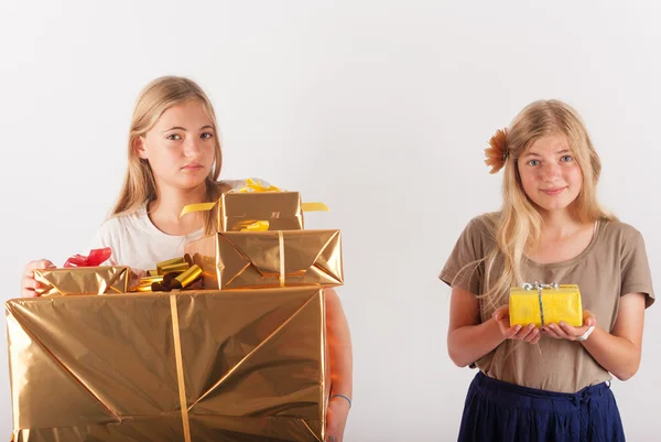
[[[521,270],[523,254],[537,246],[541,235],[543,220],[523,191],[517,162],[537,140],[548,136],[564,137],[574,161],[581,168],[583,185],[572,203],[578,222],[616,220],[597,201],[596,187],[602,162],[583,120],[571,106],[559,100],[534,101],[521,110],[506,133],[502,207],[487,223],[497,247],[484,258],[486,279],[481,295],[495,303],[509,292],[510,287],[527,282]],[[499,274],[492,281],[491,272],[499,257],[502,258],[503,268],[502,271],[499,269]]]

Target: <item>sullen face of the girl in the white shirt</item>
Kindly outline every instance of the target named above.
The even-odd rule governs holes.
[[[156,185],[192,190],[203,184],[214,164],[216,132],[199,101],[166,109],[143,137],[136,152],[149,161]]]

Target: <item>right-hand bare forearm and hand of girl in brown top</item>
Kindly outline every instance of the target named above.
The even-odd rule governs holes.
[[[638,371],[640,366],[644,305],[646,295],[643,293],[628,293],[621,297],[611,333],[598,327],[597,319],[587,310],[584,313],[585,320],[582,327],[573,327],[561,322],[560,324],[549,324],[545,327],[546,333],[552,337],[575,341],[590,325],[594,325],[594,332],[586,341],[582,341],[583,346],[602,367],[616,378],[627,380]]]

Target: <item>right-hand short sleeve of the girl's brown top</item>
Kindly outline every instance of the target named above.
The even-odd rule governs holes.
[[[654,303],[652,273],[644,248],[642,235],[637,235],[622,245],[621,289],[620,295],[627,293],[643,293],[647,297],[646,308]]]

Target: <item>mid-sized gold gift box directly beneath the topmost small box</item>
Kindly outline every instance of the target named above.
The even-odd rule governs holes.
[[[339,230],[225,231],[185,246],[205,289],[342,285]]]

